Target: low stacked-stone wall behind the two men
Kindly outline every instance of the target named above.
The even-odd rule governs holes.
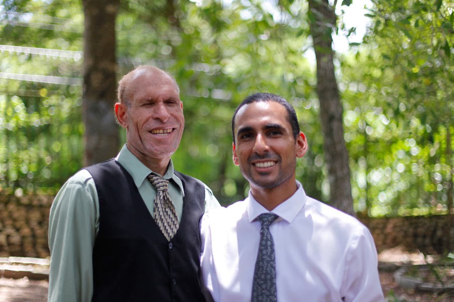
[[[0,257],[49,256],[47,230],[53,196],[0,193]],[[448,215],[359,217],[368,226],[378,251],[395,246],[428,254],[454,251],[454,221]]]

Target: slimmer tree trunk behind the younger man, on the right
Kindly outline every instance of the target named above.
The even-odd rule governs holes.
[[[309,0],[309,26],[317,60],[317,94],[328,168],[331,204],[351,215],[353,210],[349,156],[344,140],[342,105],[334,75],[332,30],[336,15],[327,0]]]

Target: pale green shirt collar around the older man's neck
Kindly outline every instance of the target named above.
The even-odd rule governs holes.
[[[136,156],[134,154],[131,153],[131,151],[128,149],[126,144],[123,145],[116,160],[132,176],[137,188],[139,188],[142,185],[143,181],[146,180],[146,177],[148,176],[148,174],[153,172],[150,169],[148,169],[144,164],[142,164],[142,162],[139,161],[139,159],[136,158]],[[157,174],[155,172],[153,172],[153,173]],[[157,175],[159,175],[159,174],[157,174]],[[177,177],[177,175],[175,175],[175,173],[174,173],[174,164],[172,162],[172,159],[168,163],[167,172],[165,172],[163,178],[172,179],[178,185],[178,187],[180,188],[180,190],[184,196],[185,193],[183,190],[183,183]]]

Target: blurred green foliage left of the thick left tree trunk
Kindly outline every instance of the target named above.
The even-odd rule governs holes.
[[[52,84],[80,78],[81,53],[71,50],[81,49],[81,7],[8,1],[3,9],[0,191],[54,193],[83,153],[80,86]]]

